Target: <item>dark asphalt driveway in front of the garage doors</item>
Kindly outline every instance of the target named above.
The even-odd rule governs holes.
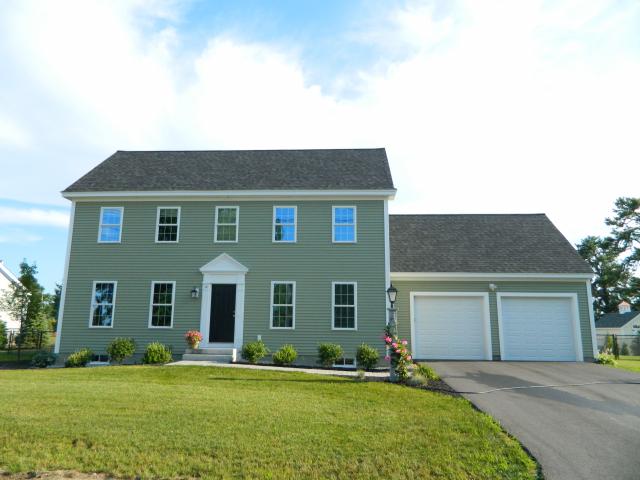
[[[592,363],[430,362],[547,479],[640,478],[640,375]]]

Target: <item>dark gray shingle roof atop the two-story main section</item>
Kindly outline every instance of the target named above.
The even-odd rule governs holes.
[[[384,148],[117,151],[65,192],[390,190]]]

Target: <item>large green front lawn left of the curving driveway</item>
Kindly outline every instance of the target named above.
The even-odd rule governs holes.
[[[119,477],[535,478],[461,398],[212,367],[0,371],[0,471]]]

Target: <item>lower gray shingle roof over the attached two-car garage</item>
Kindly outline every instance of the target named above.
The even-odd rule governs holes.
[[[392,272],[592,273],[544,214],[390,215]]]

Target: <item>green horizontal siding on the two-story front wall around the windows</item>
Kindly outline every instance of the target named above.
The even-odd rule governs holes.
[[[357,243],[332,242],[332,206],[342,201],[78,202],[72,233],[60,352],[80,347],[104,353],[114,337],[133,337],[138,352],[161,341],[181,354],[184,334],[200,328],[199,268],[227,253],[246,266],[243,342],[258,335],[271,350],[293,344],[315,355],[320,342],[336,342],[353,357],[358,345],[380,344],[385,323],[384,201],[350,201],[357,207]],[[297,206],[297,242],[274,243],[274,205]],[[97,242],[100,207],[123,206],[121,243]],[[156,243],[157,208],[180,207],[178,243]],[[214,242],[216,206],[239,206],[237,243]],[[112,328],[89,328],[94,281],[117,281]],[[176,282],[173,328],[150,329],[151,282]],[[270,328],[272,281],[296,282],[294,330]],[[358,328],[332,329],[332,282],[357,282]]]

